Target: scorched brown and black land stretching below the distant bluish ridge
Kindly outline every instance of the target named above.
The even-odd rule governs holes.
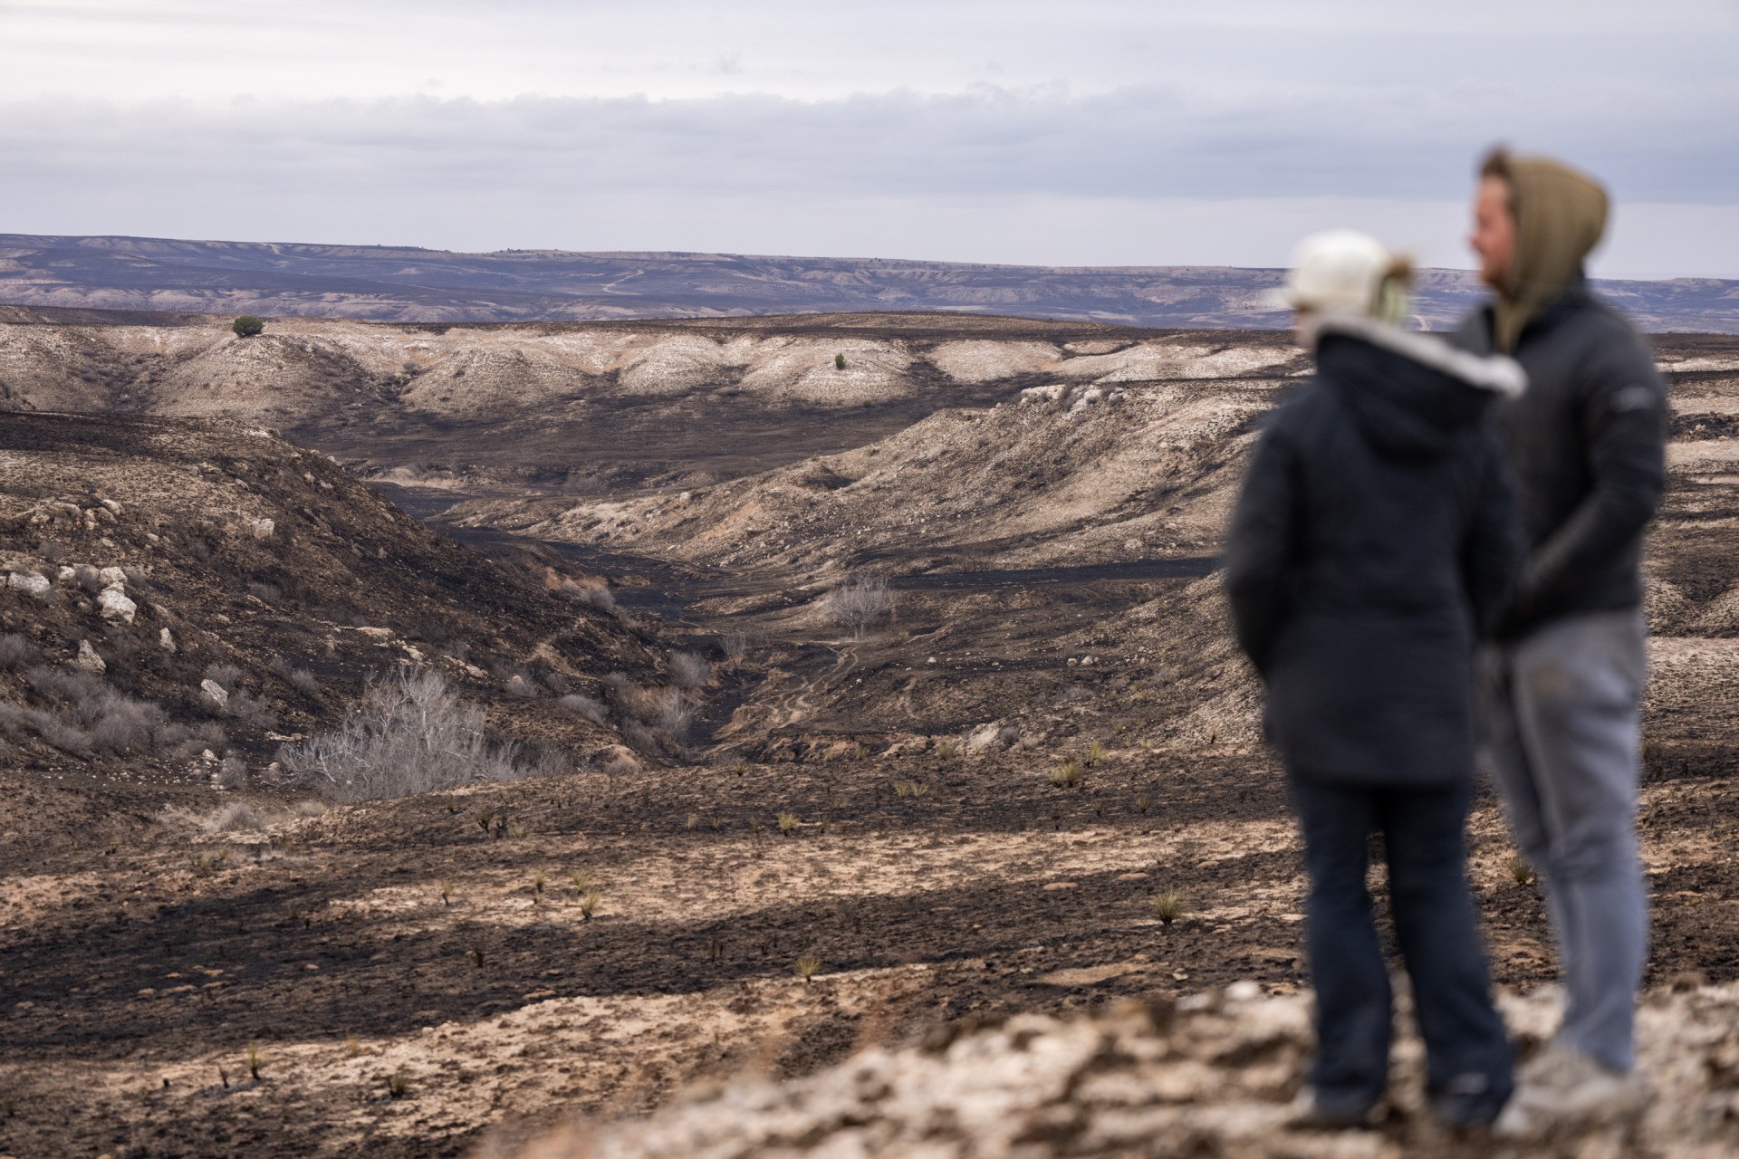
[[[1405,1083],[1374,1135],[1278,1126],[1297,843],[1214,568],[1308,372],[1285,335],[223,325],[0,330],[0,699],[70,712],[31,672],[89,641],[170,732],[5,737],[5,1154],[1730,1149],[1739,341],[1657,339],[1645,1027],[1678,1070],[1642,1124],[1506,1152]],[[431,669],[516,778],[283,778],[275,737]],[[1489,799],[1471,841],[1537,1043],[1541,895]]]

